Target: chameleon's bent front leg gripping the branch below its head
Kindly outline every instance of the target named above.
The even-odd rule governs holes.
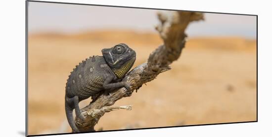
[[[130,86],[124,80],[122,80],[121,82],[110,83],[112,80],[113,80],[113,76],[108,76],[103,83],[103,88],[107,90],[111,88],[125,87],[127,91],[131,91]]]

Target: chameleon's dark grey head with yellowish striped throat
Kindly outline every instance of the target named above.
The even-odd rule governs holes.
[[[136,60],[136,52],[124,43],[102,49],[102,55],[118,78],[125,76]]]

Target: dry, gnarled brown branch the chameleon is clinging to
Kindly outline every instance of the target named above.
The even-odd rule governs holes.
[[[175,11],[171,16],[158,13],[160,24],[156,27],[164,44],[153,51],[147,62],[137,66],[126,75],[127,83],[131,91],[120,88],[110,93],[101,94],[88,106],[81,109],[84,119],[76,117],[75,123],[81,132],[94,131],[94,126],[106,112],[117,109],[132,109],[132,106],[111,106],[123,97],[129,97],[134,90],[138,90],[142,84],[156,78],[164,71],[171,69],[169,65],[178,60],[181,50],[185,45],[186,34],[184,33],[188,24],[192,21],[203,20],[203,14],[198,12]]]

